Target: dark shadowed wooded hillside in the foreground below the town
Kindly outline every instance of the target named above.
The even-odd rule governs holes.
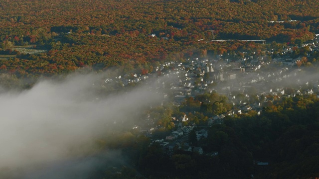
[[[174,116],[183,106],[179,109],[169,105],[161,108],[165,114]],[[260,115],[257,111],[250,111],[227,116],[222,124],[207,128],[207,138],[195,139],[194,143],[192,133],[189,134],[189,142],[205,151],[201,155],[185,151],[185,146],[178,148],[177,144],[168,155],[169,152],[159,143],[150,145],[149,138],[134,130],[113,140],[102,139],[99,143],[104,147],[122,149],[137,171],[150,179],[316,179],[319,175],[318,111],[319,98],[316,95],[296,95],[275,100],[264,107]],[[208,118],[205,112],[187,116],[189,123],[198,125],[204,124]],[[216,152],[218,155],[212,155]],[[258,165],[258,161],[267,165]],[[97,170],[92,175],[96,178],[142,178],[132,175],[136,174],[133,171],[123,170],[121,176],[102,171]]]

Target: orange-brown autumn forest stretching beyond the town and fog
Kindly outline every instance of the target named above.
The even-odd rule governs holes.
[[[146,74],[195,55],[265,55],[262,44],[210,40],[300,44],[319,33],[318,9],[319,0],[2,0],[0,53],[15,56],[0,58],[0,72],[24,78],[120,67]],[[30,44],[48,52],[10,51]]]

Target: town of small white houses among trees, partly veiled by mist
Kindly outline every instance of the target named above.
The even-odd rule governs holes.
[[[264,56],[243,52],[242,57],[233,56],[231,59],[215,55],[194,57],[184,62],[166,62],[147,75],[126,74],[122,78],[107,78],[102,87],[109,83],[120,83],[126,87],[132,84],[152,84],[156,81],[155,86],[149,88],[161,91],[161,106],[172,103],[180,107],[186,100],[205,94],[211,96],[218,93],[217,95],[223,96],[231,107],[225,107],[221,112],[210,112],[204,122],[190,122],[187,116],[190,111],[184,110],[180,116],[171,117],[170,133],[158,134],[158,131],[163,131],[165,127],[158,124],[159,119],[156,119],[152,112],[147,113],[140,123],[132,126],[132,129],[162,146],[168,155],[172,155],[174,150],[183,150],[216,156],[218,151],[207,153],[197,141],[207,138],[207,128],[222,123],[226,116],[251,111],[260,115],[268,102],[272,103],[281,97],[315,94],[319,98],[319,79],[316,75],[310,78],[313,73],[312,63],[311,59],[307,59],[319,51],[319,35],[316,36],[313,41],[300,46],[265,51],[264,54],[268,55]],[[293,54],[301,49],[305,53],[294,58]],[[271,56],[275,58],[272,59]],[[310,68],[300,68],[301,64]],[[205,100],[200,101],[198,110],[201,110],[203,102],[212,104],[217,101]]]

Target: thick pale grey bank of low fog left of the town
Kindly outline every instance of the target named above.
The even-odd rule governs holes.
[[[133,113],[159,102],[146,87],[100,97],[103,75],[45,80],[20,93],[0,94],[0,169],[41,165],[68,157],[112,125],[132,122]],[[103,82],[103,81],[102,81]]]

